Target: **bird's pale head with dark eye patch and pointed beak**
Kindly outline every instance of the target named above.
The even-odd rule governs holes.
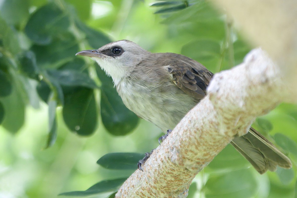
[[[93,58],[117,85],[122,78],[129,76],[135,66],[149,53],[132,41],[120,40],[108,43],[97,50],[83,50],[76,55]]]

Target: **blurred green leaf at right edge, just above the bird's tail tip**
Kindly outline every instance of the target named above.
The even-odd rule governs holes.
[[[280,133],[277,133],[274,135],[274,140],[277,143],[277,145],[282,147],[282,149],[290,152],[292,155],[294,155],[297,158],[297,144],[294,140]]]

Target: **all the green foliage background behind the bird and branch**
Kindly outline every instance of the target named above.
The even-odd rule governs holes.
[[[252,48],[206,0],[0,1],[0,197],[114,197],[157,147],[160,130],[138,125],[111,78],[75,56],[120,39],[181,53],[214,73],[241,63]],[[253,126],[293,169],[259,175],[228,145],[188,197],[297,196],[297,106],[281,104]]]

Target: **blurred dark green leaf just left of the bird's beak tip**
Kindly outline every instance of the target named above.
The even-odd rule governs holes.
[[[75,37],[65,33],[54,37],[49,45],[33,45],[31,50],[36,55],[38,67],[56,69],[72,61],[79,47]]]

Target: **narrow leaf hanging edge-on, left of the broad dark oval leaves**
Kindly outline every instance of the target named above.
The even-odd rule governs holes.
[[[57,121],[56,121],[56,108],[57,101],[53,98],[54,94],[51,93],[49,102],[48,102],[48,141],[45,148],[52,146],[57,139]]]

